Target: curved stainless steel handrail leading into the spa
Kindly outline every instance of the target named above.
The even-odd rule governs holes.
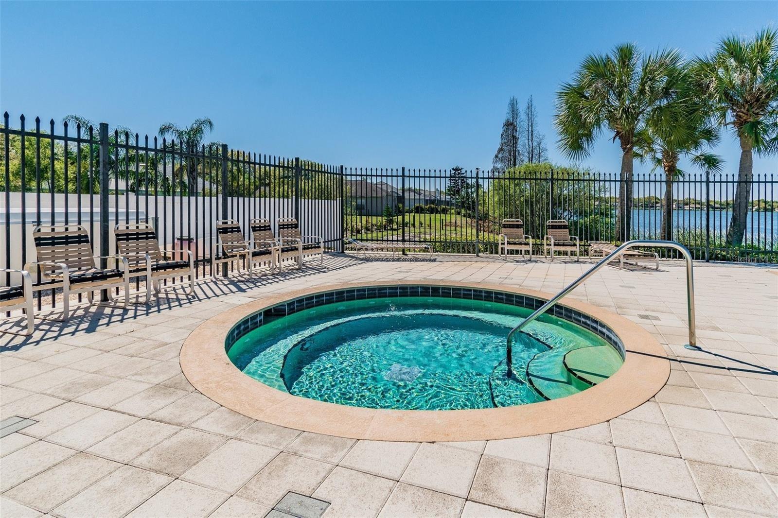
[[[562,289],[561,292],[557,293],[547,303],[540,306],[537,310],[534,311],[534,313],[522,320],[520,324],[510,330],[506,343],[506,364],[508,367],[508,376],[513,375],[513,342],[511,341],[513,334],[516,334],[517,331],[521,331],[525,326],[527,326],[527,324],[530,324],[533,320],[540,317],[551,306],[557,303],[559,299],[562,299],[563,296],[566,296],[569,292],[572,292],[573,289],[576,289],[580,284],[587,280],[587,278],[590,278],[592,275],[594,275],[595,272],[600,270],[600,268],[603,268],[605,264],[608,264],[616,257],[619,257],[619,255],[623,254],[627,249],[634,247],[675,248],[675,250],[678,250],[681,252],[681,254],[683,254],[683,257],[686,260],[686,299],[689,306],[689,345],[696,348],[697,336],[694,324],[694,274],[692,272],[692,254],[689,254],[689,250],[681,243],[676,243],[675,241],[633,240],[627,241],[626,243],[622,244],[622,246],[616,248],[610,254],[603,257],[602,260],[598,262],[598,264],[595,264],[589,271],[584,273],[584,275],[576,278],[576,280],[567,285],[565,289]]]

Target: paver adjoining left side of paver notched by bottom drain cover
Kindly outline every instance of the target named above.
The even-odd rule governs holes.
[[[278,454],[279,450],[267,446],[230,439],[181,478],[233,494]]]

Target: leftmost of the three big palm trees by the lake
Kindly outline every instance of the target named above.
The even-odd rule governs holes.
[[[587,56],[573,81],[563,83],[556,93],[558,145],[569,158],[587,157],[603,131],[612,132],[613,142],[619,140],[620,240],[629,240],[631,233],[635,135],[650,110],[671,98],[675,89],[671,72],[681,62],[675,50],[643,57],[636,45],[622,44],[612,54]]]

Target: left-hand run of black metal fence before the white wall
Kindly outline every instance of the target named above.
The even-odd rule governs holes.
[[[4,115],[2,140],[2,247],[0,264],[23,268],[35,261],[32,229],[77,224],[89,231],[93,252],[115,253],[117,223],[148,222],[166,249],[191,250],[198,277],[209,275],[216,220],[250,222],[294,217],[303,234],[321,236],[328,250],[342,250],[342,170],[305,159],[230,149],[197,148],[50,121],[33,128]],[[0,284],[9,282],[2,275]],[[49,296],[49,295],[46,295]],[[51,302],[55,303],[54,293]],[[40,298],[38,304],[40,305]]]

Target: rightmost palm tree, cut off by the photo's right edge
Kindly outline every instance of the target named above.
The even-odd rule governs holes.
[[[765,29],[753,40],[727,37],[695,71],[719,123],[734,128],[740,141],[738,187],[735,189],[727,244],[745,236],[754,177],[754,157],[778,149],[778,33]]]

